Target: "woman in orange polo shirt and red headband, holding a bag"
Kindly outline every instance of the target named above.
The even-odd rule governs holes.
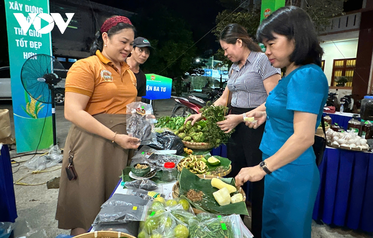
[[[107,19],[91,57],[78,60],[66,77],[66,139],[56,219],[71,235],[87,231],[127,165],[139,139],[126,135],[126,105],[137,96],[136,77],[124,63],[134,26],[123,16]],[[66,169],[65,169],[66,168]]]

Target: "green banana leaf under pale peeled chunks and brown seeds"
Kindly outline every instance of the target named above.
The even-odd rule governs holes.
[[[235,186],[235,181],[233,178],[221,178],[221,180],[225,183]],[[218,189],[211,186],[211,180],[198,178],[197,175],[193,174],[188,169],[182,169],[179,185],[180,196],[185,198],[191,204],[191,206],[196,209],[220,215],[248,215],[246,203],[244,201],[220,206],[213,196],[213,193],[216,192]],[[186,198],[186,193],[191,189],[202,191],[204,193],[203,199],[201,201],[192,202],[191,200]],[[235,192],[233,194],[236,193],[238,192]],[[231,196],[233,196],[233,194],[231,194]]]

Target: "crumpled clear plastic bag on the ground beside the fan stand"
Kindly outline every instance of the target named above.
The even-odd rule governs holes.
[[[53,167],[62,161],[63,155],[58,145],[52,146],[49,149],[48,155],[35,157],[27,161],[23,166],[28,169],[42,171],[46,168]]]

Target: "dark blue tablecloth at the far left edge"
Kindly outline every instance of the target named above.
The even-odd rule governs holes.
[[[3,145],[0,152],[0,222],[15,222],[16,198],[8,146]]]

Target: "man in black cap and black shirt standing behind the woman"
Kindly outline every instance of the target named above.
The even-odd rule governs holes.
[[[137,98],[136,101],[140,102],[141,97],[146,95],[146,77],[144,72],[140,69],[140,64],[144,64],[149,58],[151,47],[150,42],[144,37],[137,37],[134,41],[134,49],[131,56],[126,59],[129,68],[134,72],[137,80]]]

